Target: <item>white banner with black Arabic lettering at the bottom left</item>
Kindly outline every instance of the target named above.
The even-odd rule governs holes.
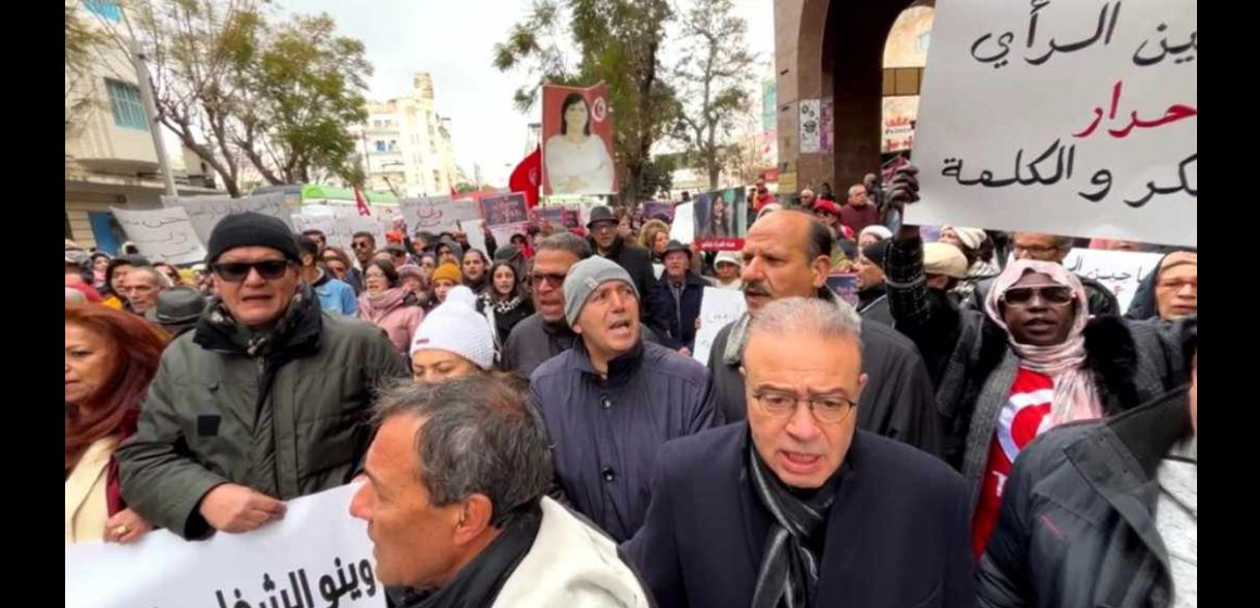
[[[204,543],[156,530],[135,545],[67,545],[66,608],[383,607],[367,524],[348,512],[358,487],[294,500],[277,522]]]

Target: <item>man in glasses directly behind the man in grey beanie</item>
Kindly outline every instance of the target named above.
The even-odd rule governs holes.
[[[499,356],[504,371],[529,378],[543,361],[573,346],[577,334],[564,320],[564,277],[573,264],[590,257],[591,245],[568,232],[552,234],[534,244],[533,267],[525,279],[537,312],[512,329]],[[648,327],[643,329],[643,337],[659,342],[656,334]]]

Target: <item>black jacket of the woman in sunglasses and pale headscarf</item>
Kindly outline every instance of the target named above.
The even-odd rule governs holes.
[[[948,420],[945,461],[979,498],[989,442],[1019,357],[1007,332],[976,310],[951,306],[927,290],[922,240],[890,242],[885,257],[888,302],[898,331],[919,345],[936,388],[936,408]],[[1094,376],[1106,417],[1133,409],[1189,380],[1186,345],[1197,318],[1125,322],[1108,315],[1085,327],[1085,366]]]

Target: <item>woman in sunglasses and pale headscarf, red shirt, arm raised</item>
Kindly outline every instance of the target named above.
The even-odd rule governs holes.
[[[898,206],[907,200],[917,198],[896,186],[890,193]],[[1033,438],[1131,409],[1189,379],[1192,320],[1090,318],[1085,287],[1062,264],[1012,262],[983,311],[961,310],[942,290],[927,288],[919,228],[903,225],[885,272],[896,327],[920,346],[936,386],[946,462],[971,487],[976,556],[997,521],[1000,481]]]

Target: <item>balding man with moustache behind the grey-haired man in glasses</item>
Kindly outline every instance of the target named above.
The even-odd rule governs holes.
[[[806,213],[775,211],[748,229],[742,274],[748,313],[723,327],[709,352],[713,390],[727,422],[745,418],[740,365],[748,322],[761,307],[772,300],[796,296],[853,308],[827,288],[830,251],[832,233]],[[800,350],[794,356],[814,354]],[[931,378],[914,342],[891,326],[863,324],[862,361],[871,385],[862,393],[858,427],[939,456],[945,419],[936,412]]]

